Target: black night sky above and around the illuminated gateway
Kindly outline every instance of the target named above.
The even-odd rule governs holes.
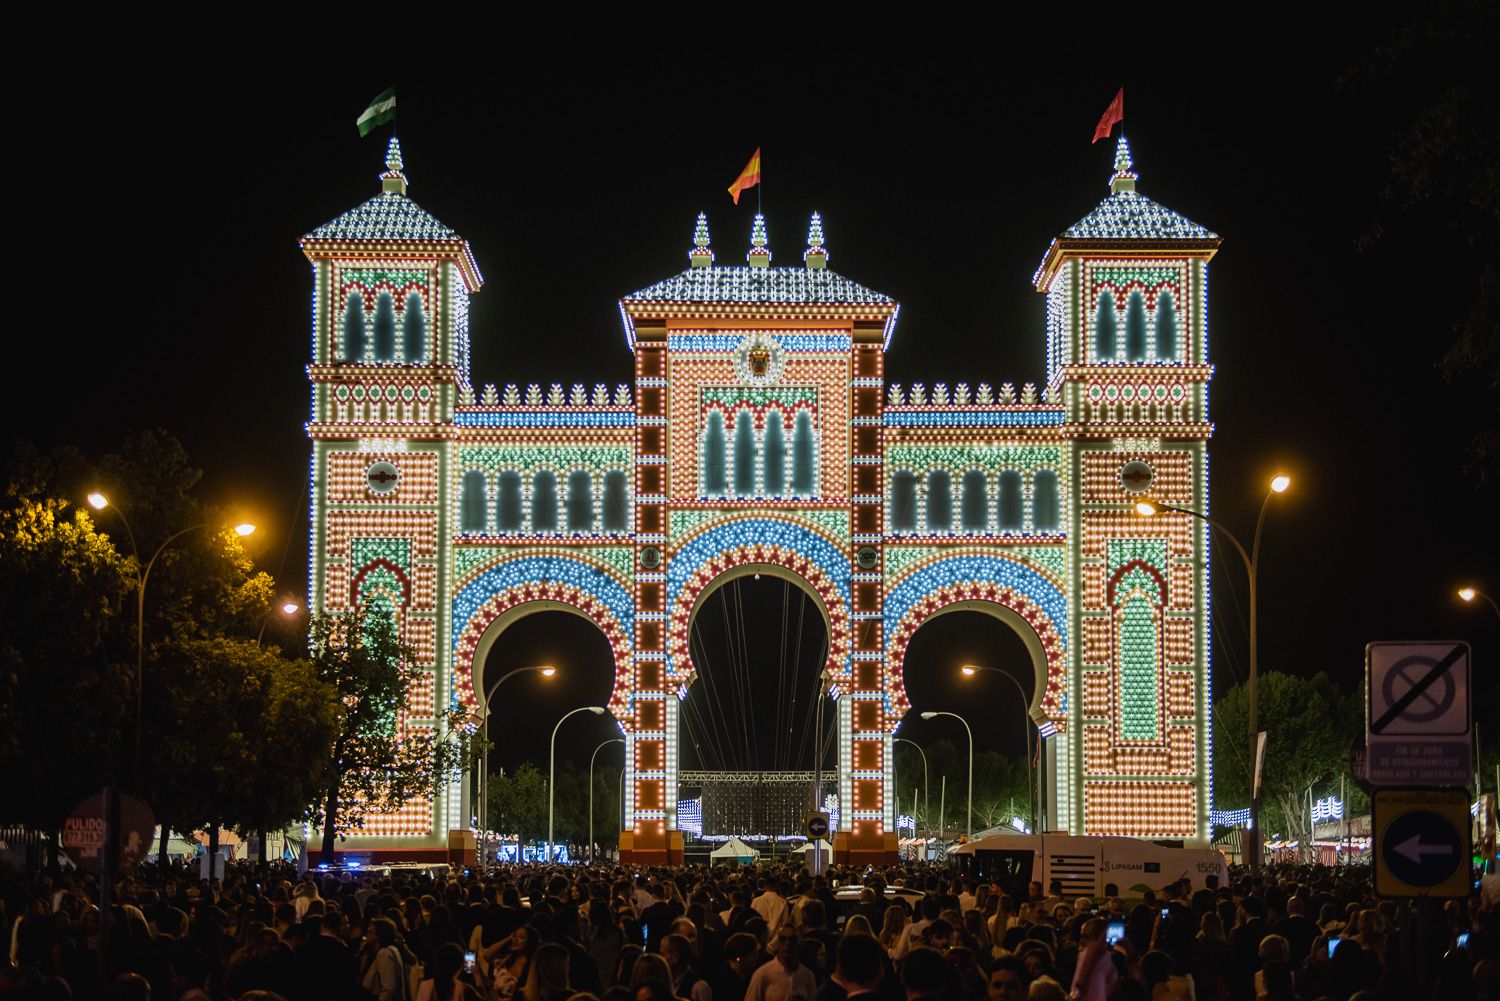
[[[1450,72],[1485,71],[1428,54],[1394,80],[1340,83],[1386,38],[1371,32],[1176,75],[1166,48],[1053,74],[762,59],[753,86],[746,66],[676,60],[597,74],[496,63],[468,80],[393,75],[381,60],[318,80],[256,71],[254,87],[232,62],[195,68],[190,86],[142,71],[128,119],[84,129],[56,108],[12,116],[27,150],[10,165],[12,198],[48,213],[36,281],[51,317],[12,333],[12,434],[106,450],[128,428],[171,431],[206,470],[204,495],[240,504],[262,527],[261,564],[304,593],[310,269],[297,239],[380,191],[388,129],[360,140],[354,119],[390,84],[410,195],[471,242],[486,278],[472,302],[476,384],[628,381],[616,300],[686,267],[699,210],[720,263],[744,254],[756,197],[735,207],[724,188],[758,146],[774,263],[800,263],[816,209],[830,267],[902,302],[888,381],[1040,383],[1030,276],[1048,240],[1107,194],[1113,143],[1089,138],[1124,84],[1138,189],[1224,237],[1209,285],[1214,513],[1248,542],[1270,474],[1294,482],[1266,527],[1262,668],[1353,687],[1366,641],[1466,638],[1484,677],[1500,629],[1454,588],[1500,594],[1500,503],[1462,470],[1496,399],[1437,371],[1474,263],[1382,192],[1413,107]],[[760,590],[747,599],[758,615],[772,609],[756,656],[774,671],[782,585],[742,587]],[[1245,581],[1222,545],[1215,588],[1222,692],[1245,671]],[[1017,713],[1010,686],[964,683],[954,668],[1020,657],[993,620],[939,618],[912,644],[912,702],[966,710],[992,723],[981,749],[1018,752],[1004,725]],[[488,677],[538,662],[564,677],[507,684],[506,764],[544,759],[562,711],[608,698],[608,647],[582,620],[513,627]],[[774,704],[756,708],[770,726]],[[567,728],[560,749],[585,764],[618,735],[608,719]],[[915,711],[902,735],[963,738]],[[756,738],[777,746],[770,729]]]

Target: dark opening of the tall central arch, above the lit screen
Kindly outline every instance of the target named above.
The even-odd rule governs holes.
[[[717,582],[688,624],[696,669],[681,705],[684,770],[807,771],[837,767],[831,699],[818,699],[828,627],[818,599],[789,579],[747,570]],[[831,779],[825,788],[832,788]]]

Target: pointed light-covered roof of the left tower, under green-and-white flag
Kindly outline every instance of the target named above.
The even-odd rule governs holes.
[[[459,261],[470,291],[477,291],[484,278],[468,240],[406,197],[405,162],[396,137],[386,147],[386,170],[380,182],[381,194],[306,234],[302,239],[303,252],[312,258],[315,252],[368,252],[380,243],[417,243],[428,252],[450,252]]]

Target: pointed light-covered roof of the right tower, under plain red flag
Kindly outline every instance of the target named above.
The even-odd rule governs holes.
[[[1046,288],[1065,251],[1083,248],[1119,249],[1218,249],[1220,237],[1208,227],[1152,201],[1136,191],[1136,162],[1130,143],[1122,135],[1114,146],[1114,170],[1110,173],[1110,194],[1062,236],[1052,242],[1036,269],[1034,282]]]

